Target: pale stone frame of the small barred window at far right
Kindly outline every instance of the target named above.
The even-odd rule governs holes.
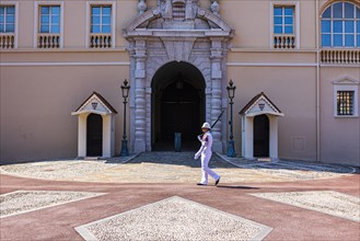
[[[342,79],[340,81],[334,81],[334,117],[338,118],[353,118],[359,117],[359,81],[352,80],[350,78]],[[353,103],[352,103],[352,115],[339,115],[337,113],[337,93],[340,91],[352,91],[353,92]]]

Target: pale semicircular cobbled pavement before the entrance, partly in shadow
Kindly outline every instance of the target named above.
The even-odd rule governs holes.
[[[57,181],[111,183],[195,183],[200,162],[193,152],[144,152],[131,160],[58,160],[0,165],[2,174]],[[291,182],[352,175],[346,165],[304,161],[255,161],[213,154],[210,168],[222,183]]]

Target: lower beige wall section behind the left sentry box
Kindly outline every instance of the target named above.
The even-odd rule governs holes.
[[[81,54],[77,55],[80,59]],[[82,61],[102,59],[96,58],[101,55],[85,54]],[[19,54],[18,60],[25,56]],[[63,60],[56,54],[48,57]],[[72,59],[71,54],[67,57]],[[119,113],[115,118],[118,153],[123,136],[120,85],[128,72],[128,66],[1,67],[1,160],[77,157],[78,117],[71,112],[93,91]]]

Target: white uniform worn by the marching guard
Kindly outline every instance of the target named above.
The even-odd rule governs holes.
[[[208,184],[208,175],[210,175],[213,180],[219,180],[219,175],[212,171],[208,165],[212,154],[212,135],[210,131],[204,134],[202,138],[198,138],[201,142],[201,147],[196,152],[195,159],[198,159],[201,156],[201,184]]]

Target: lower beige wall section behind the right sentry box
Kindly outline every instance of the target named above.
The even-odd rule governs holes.
[[[279,158],[316,159],[316,111],[314,67],[228,67],[236,84],[234,99],[236,151],[241,150],[241,118],[237,114],[256,94],[265,94],[284,114],[279,117]],[[292,145],[303,138],[304,148]]]

